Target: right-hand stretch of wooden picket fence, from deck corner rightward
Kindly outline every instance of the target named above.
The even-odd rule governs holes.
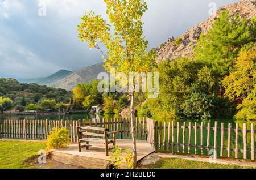
[[[205,151],[207,151],[207,155],[209,155],[210,150],[213,149],[214,158],[217,158],[218,155],[229,158],[231,157],[231,152],[234,152],[234,158],[239,158],[238,153],[242,153],[244,159],[247,159],[250,154],[251,160],[255,160],[256,131],[253,123],[250,125],[250,130],[247,130],[246,123],[242,125],[242,129],[239,128],[238,123],[235,129],[232,128],[232,123],[228,123],[228,128],[225,128],[224,123],[221,123],[221,127],[218,127],[218,122],[214,123],[214,127],[211,127],[210,123],[204,126],[203,122],[201,124],[193,123],[193,125],[189,122],[189,125],[186,125],[187,123],[185,122],[159,123],[155,121],[155,152],[160,150],[190,154],[193,148],[193,154],[205,155]],[[204,133],[205,131],[207,131],[207,135]],[[248,138],[248,134],[250,134],[250,138]],[[228,136],[226,137],[225,135]],[[242,135],[242,145],[238,141],[239,135]],[[224,139],[228,142],[226,147]],[[231,147],[232,139],[235,139],[234,148]],[[247,145],[249,142],[251,147]],[[242,146],[242,149],[239,146]],[[224,151],[226,151],[225,155]]]

